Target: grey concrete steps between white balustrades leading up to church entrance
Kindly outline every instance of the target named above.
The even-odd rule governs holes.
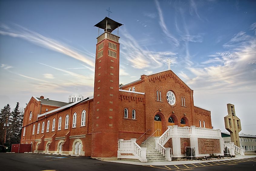
[[[147,147],[146,158],[148,162],[165,162],[167,161],[165,156],[155,150],[155,138],[158,137],[150,137],[144,144],[141,144],[140,147]]]

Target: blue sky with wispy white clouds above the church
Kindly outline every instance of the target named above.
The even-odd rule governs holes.
[[[120,84],[167,70],[170,59],[194,90],[194,105],[211,111],[214,129],[227,132],[223,117],[231,103],[240,133],[256,134],[253,0],[0,0],[0,108],[25,108],[32,95],[62,102],[76,91],[93,95],[93,26],[108,8],[124,24]]]

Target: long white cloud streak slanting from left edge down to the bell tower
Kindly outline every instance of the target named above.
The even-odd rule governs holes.
[[[2,35],[19,37],[19,38],[28,40],[29,42],[32,42],[38,46],[57,51],[59,53],[63,53],[67,56],[70,56],[76,60],[80,60],[89,66],[94,67],[95,65],[91,57],[82,55],[81,53],[78,53],[74,48],[69,47],[68,45],[65,45],[57,40],[51,39],[49,37],[45,37],[37,32],[30,31],[18,25],[16,30],[12,30],[8,26],[2,27],[2,28],[3,29],[0,30],[0,34]]]

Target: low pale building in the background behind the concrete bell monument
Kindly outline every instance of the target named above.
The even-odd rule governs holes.
[[[221,137],[224,143],[230,143],[231,137],[230,133],[221,132]],[[240,146],[244,148],[245,151],[255,151],[256,150],[256,135],[249,134],[239,134]]]

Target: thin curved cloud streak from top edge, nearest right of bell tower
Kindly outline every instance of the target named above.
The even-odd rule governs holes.
[[[165,35],[168,37],[168,39],[170,40],[170,42],[172,44],[174,44],[176,47],[179,45],[179,41],[168,31],[166,25],[165,25],[165,21],[164,21],[164,16],[163,16],[163,12],[160,8],[159,2],[158,0],[155,0],[155,4],[156,4],[156,8],[158,11],[158,15],[159,15],[159,24],[162,28],[162,31],[165,33]]]

